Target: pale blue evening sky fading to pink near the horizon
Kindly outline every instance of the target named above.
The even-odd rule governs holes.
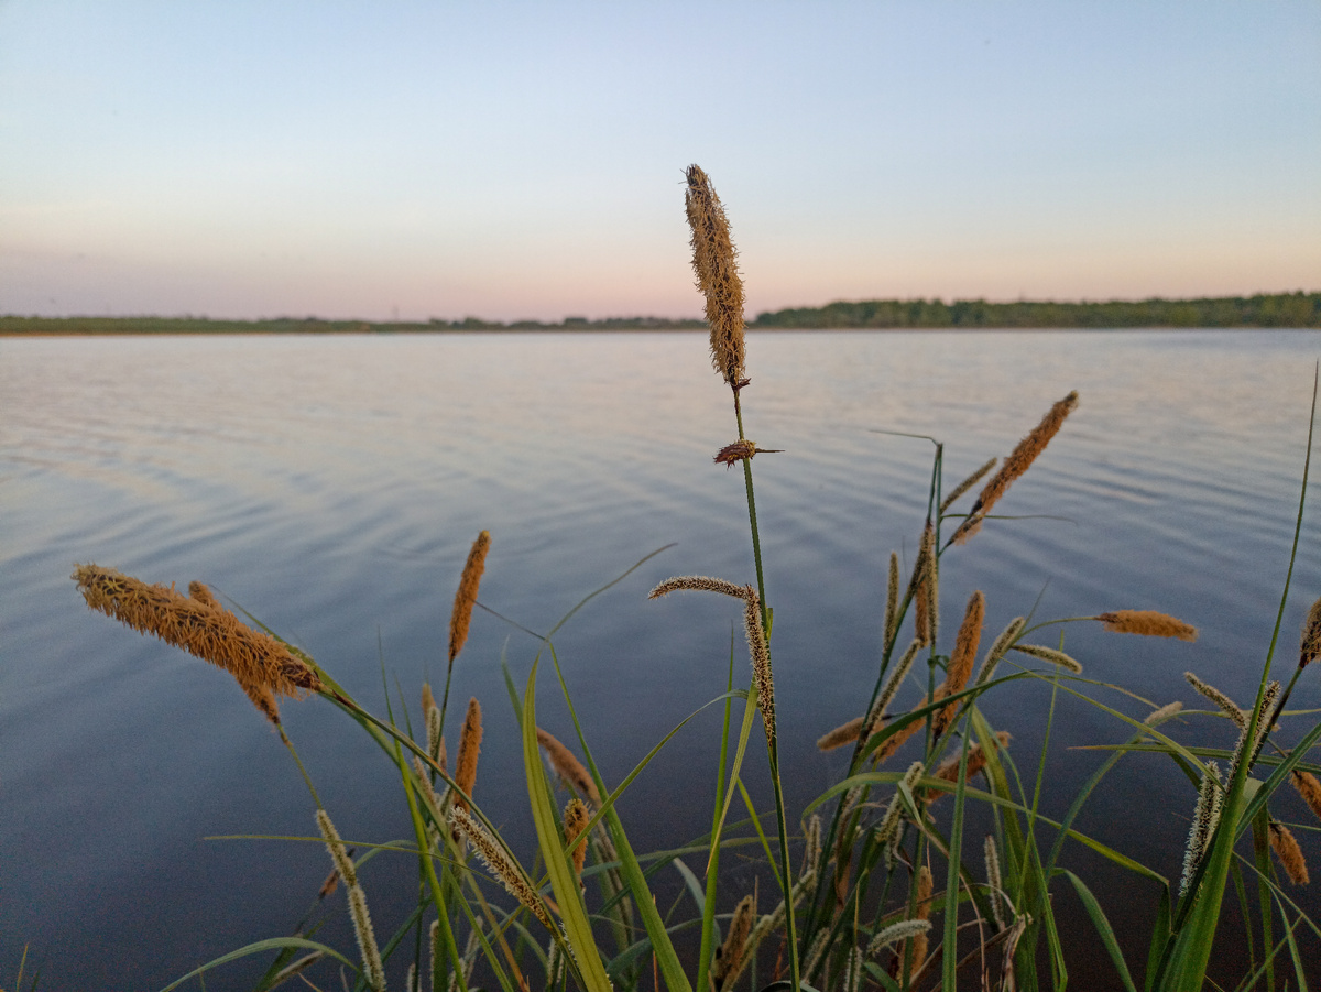
[[[1321,289],[1321,3],[0,0],[0,313]]]

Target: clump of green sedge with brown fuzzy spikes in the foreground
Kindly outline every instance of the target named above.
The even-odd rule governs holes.
[[[337,880],[343,882],[357,952],[346,955],[306,937],[275,938],[203,966],[170,988],[235,956],[264,954],[272,960],[259,984],[263,989],[295,979],[324,988],[337,981],[336,967],[351,987],[363,989],[383,989],[387,970],[398,972],[410,992],[468,992],[474,981],[501,992],[1038,989],[1063,988],[1073,946],[1089,943],[1099,944],[1110,958],[1114,987],[1173,992],[1203,987],[1227,892],[1239,901],[1244,926],[1256,938],[1248,940],[1256,951],[1244,966],[1240,987],[1305,985],[1299,933],[1309,930],[1321,938],[1321,929],[1288,897],[1287,885],[1306,884],[1304,845],[1271,807],[1288,782],[1321,816],[1318,769],[1306,762],[1321,738],[1321,723],[1308,726],[1292,746],[1280,744],[1276,733],[1277,724],[1289,717],[1284,705],[1296,682],[1321,655],[1321,601],[1309,614],[1299,662],[1283,684],[1272,678],[1280,633],[1276,620],[1251,705],[1239,707],[1189,675],[1197,691],[1239,730],[1232,746],[1197,750],[1161,729],[1178,715],[1177,703],[1152,704],[1149,713],[1135,717],[1095,697],[1098,683],[1083,679],[1082,662],[1065,651],[1059,633],[1066,623],[1096,622],[1114,633],[1193,641],[1197,631],[1174,617],[1127,608],[1044,622],[1029,614],[1015,618],[983,647],[987,596],[976,590],[952,635],[942,629],[939,588],[947,555],[956,555],[996,519],[992,509],[1061,432],[1078,407],[1077,392],[1057,402],[1008,457],[987,461],[948,491],[942,485],[943,445],[935,445],[926,516],[917,535],[919,549],[906,583],[898,555],[889,557],[871,695],[852,720],[818,742],[823,750],[849,748],[848,765],[835,785],[791,816],[775,724],[774,610],[766,600],[752,468],[756,454],[774,449],[757,446],[744,432],[742,398],[752,379],[742,284],[728,217],[697,166],[687,172],[686,201],[694,271],[707,300],[712,365],[731,391],[737,428],[737,439],[715,461],[742,470],[754,564],[753,576],[676,576],[651,590],[651,598],[675,592],[716,593],[737,601],[741,613],[750,668],[736,684],[731,667],[729,691],[712,700],[723,708],[724,721],[711,742],[717,754],[711,831],[679,851],[647,857],[634,852],[617,804],[674,732],[622,781],[606,782],[588,744],[588,729],[573,709],[555,651],[555,631],[542,639],[520,691],[506,668],[520,728],[535,851],[511,849],[477,799],[482,708],[476,699],[465,712],[454,767],[448,767],[448,700],[491,542],[486,531],[460,576],[441,701],[429,686],[423,687],[416,737],[392,708],[386,719],[374,716],[313,659],[240,623],[205,586],[184,597],[172,588],[81,565],[74,577],[90,606],[232,672],[276,725],[295,761],[299,756],[279,723],[276,696],[317,695],[338,707],[388,756],[412,826],[407,844],[388,847],[417,861],[421,884],[416,909],[395,933],[378,937],[358,870],[366,857],[353,861],[306,778],[317,827],[334,864],[322,897]],[[959,499],[988,476],[970,509],[955,511]],[[1301,514],[1300,503],[1297,528]],[[1287,594],[1288,581],[1280,617]],[[553,670],[568,705],[576,749],[538,725],[538,672],[543,664]],[[996,726],[983,707],[987,693],[1004,693],[1011,683],[1029,680],[1046,683],[1053,700],[1073,695],[1096,707],[1128,734],[1078,787],[1059,820],[1041,814],[1041,794],[1054,786],[1040,770],[1044,757],[1036,779],[1025,778],[1015,761],[1011,730]],[[914,691],[921,687],[921,701],[896,708],[909,684]],[[1044,746],[1049,746],[1053,719],[1054,703]],[[754,737],[757,723],[764,733]],[[760,749],[762,736],[770,811],[756,810],[746,789],[752,774],[745,770],[748,749]],[[889,762],[914,738],[919,742],[910,746],[901,771]],[[1133,752],[1166,756],[1189,781],[1186,795],[1169,798],[1170,803],[1186,803],[1192,819],[1177,884],[1075,826],[1106,775]],[[1227,769],[1223,773],[1222,765]],[[556,799],[555,781],[569,793],[567,804]],[[745,807],[749,816],[736,814],[736,806]],[[991,823],[988,833],[971,835],[975,815]],[[765,831],[764,819],[770,818],[774,831]],[[1132,940],[1119,939],[1089,884],[1062,865],[1067,841],[1144,881],[1143,893],[1155,893],[1157,922],[1143,940],[1144,960],[1133,958]],[[721,870],[723,855],[734,847],[760,857],[753,892],[731,892],[729,873]],[[700,872],[684,856],[694,856]],[[663,915],[658,907],[657,873],[671,865],[683,876],[686,898],[691,898],[687,914],[676,907]],[[758,892],[762,882],[765,889]],[[1250,886],[1256,889],[1255,903]],[[1057,919],[1055,897],[1062,890],[1078,897],[1090,921],[1086,933],[1066,930]],[[758,905],[770,910],[762,913]]]

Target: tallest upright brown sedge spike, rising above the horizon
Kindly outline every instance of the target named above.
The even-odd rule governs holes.
[[[707,300],[711,363],[725,382],[744,382],[744,297],[729,221],[720,198],[699,166],[690,165],[684,207],[692,229],[692,271]]]

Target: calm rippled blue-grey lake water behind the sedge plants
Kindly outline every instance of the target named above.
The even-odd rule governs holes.
[[[847,762],[812,741],[865,705],[885,561],[890,549],[911,560],[922,523],[934,448],[882,431],[943,441],[952,483],[1077,388],[1081,408],[1000,505],[1041,519],[992,520],[945,559],[946,635],[976,588],[988,635],[1033,604],[1038,617],[1162,609],[1198,625],[1199,641],[1075,625],[1067,647],[1090,678],[1157,704],[1194,707],[1189,668],[1247,701],[1288,564],[1318,355],[1310,332],[753,336],[748,433],[785,449],[756,470],[791,806]],[[645,596],[671,575],[752,579],[741,473],[711,462],[736,436],[727,398],[700,334],[0,339],[0,981],[30,944],[42,988],[159,988],[289,933],[329,870],[318,844],[211,839],[306,836],[313,806],[232,680],[91,614],[74,563],[201,579],[383,712],[382,666],[412,707],[428,672],[443,676],[449,604],[480,530],[493,535],[482,602],[532,630],[675,543],[557,637],[618,781],[724,686],[728,604]],[[1310,518],[1295,584],[1289,650],[1321,593]],[[456,670],[458,697],[486,709],[477,798],[517,843],[526,791],[499,659],[522,682],[534,650],[478,613]],[[1292,707],[1321,707],[1310,675]],[[568,737],[551,690],[542,723]],[[1025,773],[1045,701],[1022,686],[987,704]],[[346,719],[318,701],[287,703],[284,719],[343,836],[410,835],[398,778]],[[690,725],[624,803],[639,851],[705,828],[715,729]],[[1219,720],[1177,733],[1232,742]],[[1045,812],[1062,812],[1100,760],[1074,745],[1125,736],[1062,704]],[[766,802],[762,778],[756,765]],[[1186,779],[1129,758],[1102,791],[1079,827],[1177,877]],[[1306,824],[1296,797],[1281,798],[1277,815]],[[1321,835],[1299,836],[1321,872]],[[1149,886],[1079,853],[1073,864],[1122,933],[1149,926]],[[379,857],[365,886],[388,933],[415,864]],[[1300,892],[1321,915],[1314,890]],[[1062,911],[1071,900],[1058,896]],[[321,935],[351,951],[342,913]],[[1235,954],[1226,942],[1223,956]],[[1073,987],[1112,985],[1091,960],[1079,954]],[[240,966],[207,984],[251,975]]]

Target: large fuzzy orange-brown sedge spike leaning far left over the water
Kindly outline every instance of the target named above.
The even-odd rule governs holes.
[[[78,565],[71,577],[89,608],[225,668],[272,724],[280,723],[276,696],[300,699],[322,688],[310,664],[219,605],[92,564]]]

